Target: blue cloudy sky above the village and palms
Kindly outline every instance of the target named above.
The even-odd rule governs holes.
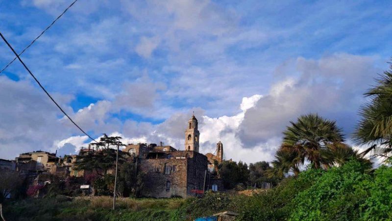
[[[0,31],[22,51],[73,0],[0,0]],[[301,114],[345,138],[363,93],[389,68],[389,1],[78,0],[22,59],[93,138],[184,150],[193,111],[200,152],[271,161]],[[0,42],[0,66],[13,59]],[[0,74],[0,158],[71,154],[91,140],[19,62]]]

